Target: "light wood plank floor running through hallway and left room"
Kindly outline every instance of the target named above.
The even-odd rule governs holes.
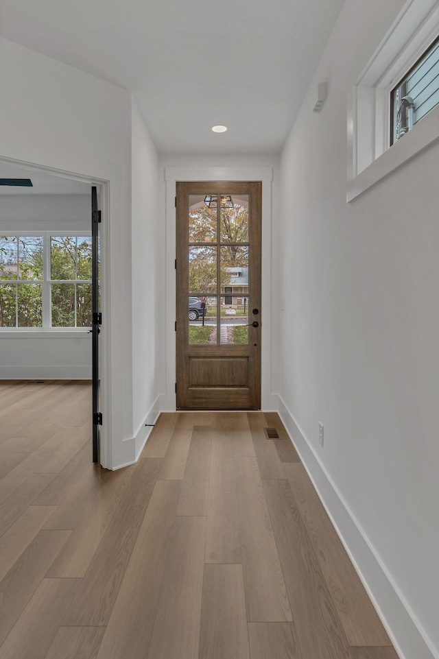
[[[110,472],[90,397],[0,383],[0,659],[397,659],[276,414],[162,414]]]

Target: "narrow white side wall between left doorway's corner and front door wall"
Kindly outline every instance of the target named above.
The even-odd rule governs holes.
[[[132,361],[137,455],[154,423],[165,374],[165,240],[158,216],[156,147],[132,99]]]

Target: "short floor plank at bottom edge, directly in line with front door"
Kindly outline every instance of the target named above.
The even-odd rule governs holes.
[[[205,565],[200,657],[250,659],[241,565]]]

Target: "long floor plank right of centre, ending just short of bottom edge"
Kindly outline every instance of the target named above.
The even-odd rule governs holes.
[[[287,590],[257,459],[235,458],[235,475],[247,619],[249,622],[291,621]]]

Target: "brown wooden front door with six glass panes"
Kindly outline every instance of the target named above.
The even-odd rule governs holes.
[[[177,407],[261,407],[261,182],[176,189]]]

